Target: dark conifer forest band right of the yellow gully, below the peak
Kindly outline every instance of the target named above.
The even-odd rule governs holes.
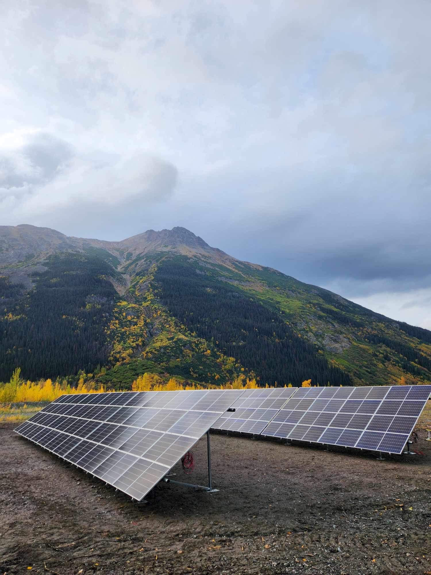
[[[307,378],[320,385],[349,384],[348,374],[330,366],[280,314],[234,286],[197,273],[184,260],[163,260],[155,280],[161,303],[180,323],[252,369],[261,384],[298,385]]]

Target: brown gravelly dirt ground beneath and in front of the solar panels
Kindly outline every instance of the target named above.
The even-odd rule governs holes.
[[[147,503],[0,424],[0,575],[431,573],[424,457],[211,435],[217,493],[163,484]],[[180,481],[205,484],[206,440]]]

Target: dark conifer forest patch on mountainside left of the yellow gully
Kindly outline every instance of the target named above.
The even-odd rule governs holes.
[[[53,255],[33,275],[34,289],[0,283],[5,319],[0,321],[0,381],[16,367],[26,379],[75,375],[107,362],[105,328],[116,290],[115,273],[99,258]]]

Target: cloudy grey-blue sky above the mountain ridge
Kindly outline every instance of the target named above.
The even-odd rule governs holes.
[[[2,0],[0,225],[211,246],[431,329],[429,0]]]

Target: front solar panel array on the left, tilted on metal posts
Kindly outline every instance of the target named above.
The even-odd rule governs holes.
[[[243,393],[67,395],[15,431],[141,500]]]

